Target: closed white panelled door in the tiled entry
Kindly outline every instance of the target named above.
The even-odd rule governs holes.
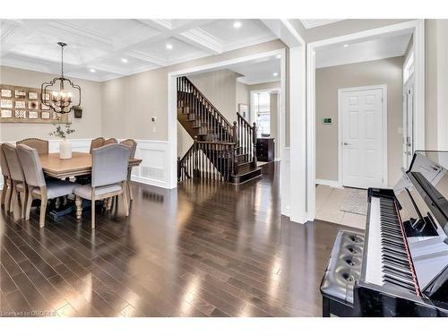
[[[342,184],[387,185],[383,145],[383,88],[340,90]],[[384,132],[383,132],[384,131]]]

